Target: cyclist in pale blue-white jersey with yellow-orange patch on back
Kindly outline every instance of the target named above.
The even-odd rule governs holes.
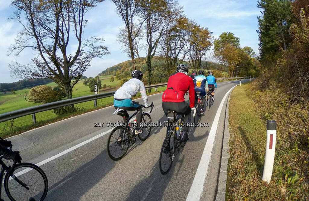
[[[208,91],[208,84],[207,84],[207,79],[205,77],[205,72],[204,70],[199,70],[198,75],[194,77],[194,90],[195,92],[200,92],[201,97],[202,97],[202,107],[201,107],[201,114],[204,113],[204,104],[205,104],[205,97],[206,97],[206,91]],[[197,96],[195,96],[195,103],[197,103]]]

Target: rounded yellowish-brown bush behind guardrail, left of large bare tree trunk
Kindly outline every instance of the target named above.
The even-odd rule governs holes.
[[[29,91],[28,99],[35,103],[50,103],[61,100],[62,93],[54,91],[50,86],[40,85],[33,87]]]

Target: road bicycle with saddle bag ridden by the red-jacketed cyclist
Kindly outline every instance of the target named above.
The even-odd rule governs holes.
[[[193,113],[193,117],[195,117],[195,112],[196,110]],[[170,171],[173,161],[180,151],[180,147],[184,147],[186,144],[186,142],[181,142],[180,139],[184,116],[179,115],[173,110],[168,110],[167,119],[167,135],[163,141],[159,159],[159,167],[162,175],[166,175]]]

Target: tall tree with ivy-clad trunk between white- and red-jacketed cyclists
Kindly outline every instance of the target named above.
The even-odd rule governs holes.
[[[177,2],[171,0],[143,0],[140,2],[140,18],[145,20],[147,42],[148,84],[151,85],[151,60],[155,56],[161,37],[169,30],[170,25],[181,9]],[[149,90],[151,91],[151,90]]]

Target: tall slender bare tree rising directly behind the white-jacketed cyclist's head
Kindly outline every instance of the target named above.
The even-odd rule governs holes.
[[[129,56],[133,63],[133,69],[135,67],[134,58],[134,41],[141,30],[144,20],[138,22],[139,1],[138,0],[112,0],[116,6],[116,11],[125,22],[126,37],[129,47]]]

